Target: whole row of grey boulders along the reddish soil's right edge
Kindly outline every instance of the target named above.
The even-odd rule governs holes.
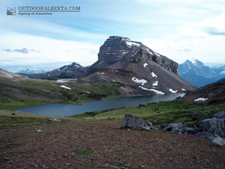
[[[218,118],[216,118],[218,117]],[[224,112],[214,115],[212,119],[205,119],[201,122],[199,128],[188,127],[185,123],[160,124],[156,127],[151,122],[144,122],[138,116],[125,115],[121,128],[130,128],[134,130],[162,130],[169,131],[170,134],[195,135],[211,140],[213,146],[225,145],[225,120]]]

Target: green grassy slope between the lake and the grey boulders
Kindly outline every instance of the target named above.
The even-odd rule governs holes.
[[[162,123],[182,123],[189,126],[199,125],[201,120],[212,118],[215,113],[224,110],[225,102],[188,104],[185,101],[167,101],[128,109],[98,111],[72,116],[80,120],[113,120],[123,118],[126,114],[133,114],[151,121],[153,125]]]

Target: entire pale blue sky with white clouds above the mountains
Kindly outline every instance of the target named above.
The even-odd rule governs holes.
[[[80,6],[80,12],[20,15],[23,6]],[[16,15],[7,9],[16,8]],[[139,41],[178,63],[225,64],[225,0],[1,0],[0,68],[49,70],[97,61],[112,35]]]

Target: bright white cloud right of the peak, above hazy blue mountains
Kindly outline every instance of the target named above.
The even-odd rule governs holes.
[[[221,47],[225,36],[214,36],[225,35],[223,23],[225,23],[225,12],[200,23],[179,26],[177,34],[160,39],[145,38],[142,41],[156,52],[164,54],[178,63],[191,57],[198,58],[203,62],[217,59],[217,61],[225,63],[225,48]],[[214,29],[211,29],[210,32],[209,29],[207,31],[207,28]]]

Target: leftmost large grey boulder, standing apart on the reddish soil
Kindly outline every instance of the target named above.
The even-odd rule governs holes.
[[[125,115],[121,128],[130,128],[133,130],[150,130],[143,119],[134,115]]]

